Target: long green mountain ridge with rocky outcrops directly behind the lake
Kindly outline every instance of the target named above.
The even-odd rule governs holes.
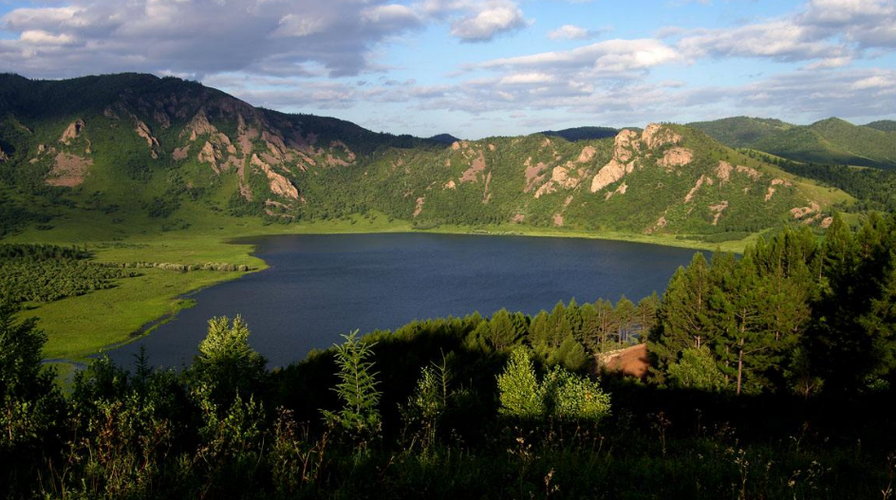
[[[828,207],[849,199],[693,127],[445,145],[137,74],[0,76],[0,149],[7,231],[79,220],[110,238],[216,227],[228,217],[291,223],[368,213],[419,228],[742,238],[788,222],[823,225]]]

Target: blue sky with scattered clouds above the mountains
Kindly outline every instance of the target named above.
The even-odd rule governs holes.
[[[896,0],[0,0],[0,72],[136,71],[478,139],[896,118]]]

